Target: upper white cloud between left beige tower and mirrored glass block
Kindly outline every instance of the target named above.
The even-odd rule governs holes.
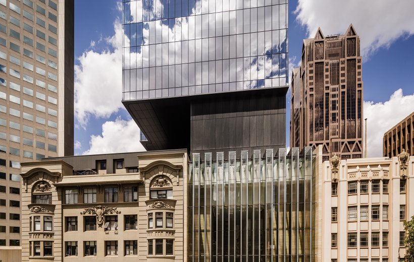
[[[123,108],[122,100],[122,25],[114,23],[115,35],[106,38],[113,51],[87,50],[75,65],[75,116],[85,127],[90,116],[109,117]],[[91,45],[92,42],[91,41]]]

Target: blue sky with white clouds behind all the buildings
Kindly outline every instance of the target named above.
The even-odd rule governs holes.
[[[139,128],[121,103],[120,1],[75,0],[75,155],[143,151]],[[326,12],[331,10],[332,12]],[[382,155],[384,133],[414,111],[414,1],[294,0],[289,2],[289,71],[302,40],[343,34],[361,39],[368,157]],[[289,146],[290,92],[286,98]]]

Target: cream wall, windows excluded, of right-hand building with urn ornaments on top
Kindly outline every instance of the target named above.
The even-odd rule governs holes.
[[[318,165],[318,163],[317,163]],[[401,175],[405,175],[403,178]],[[321,249],[321,261],[346,261],[348,258],[388,258],[396,261],[403,257],[405,248],[399,245],[399,234],[404,231],[400,220],[400,205],[405,205],[405,221],[414,215],[414,157],[410,157],[407,169],[400,169],[397,157],[365,158],[341,160],[338,173],[332,173],[329,161],[322,163],[320,170],[323,184],[319,190],[319,211],[322,213],[317,223],[317,246]],[[336,178],[336,180],[334,179]],[[380,180],[379,192],[372,191],[372,181]],[[400,191],[400,181],[405,180],[405,191]],[[360,192],[360,182],[368,181],[368,192]],[[388,192],[383,190],[383,181],[388,181]],[[348,183],[357,182],[357,193],[348,193]],[[332,195],[332,183],[338,184],[337,195]],[[368,220],[361,219],[361,207],[368,207]],[[372,219],[372,207],[379,206],[379,219]],[[388,219],[383,217],[384,206],[388,206]],[[356,207],[356,220],[348,219],[348,207]],[[337,208],[337,221],[331,221],[331,209]],[[360,245],[360,233],[368,233],[368,246]],[[372,245],[372,233],[380,232],[379,246]],[[382,244],[383,232],[388,232],[388,245]],[[337,246],[331,247],[331,234],[337,234]],[[356,246],[348,246],[348,233],[356,233]]]

